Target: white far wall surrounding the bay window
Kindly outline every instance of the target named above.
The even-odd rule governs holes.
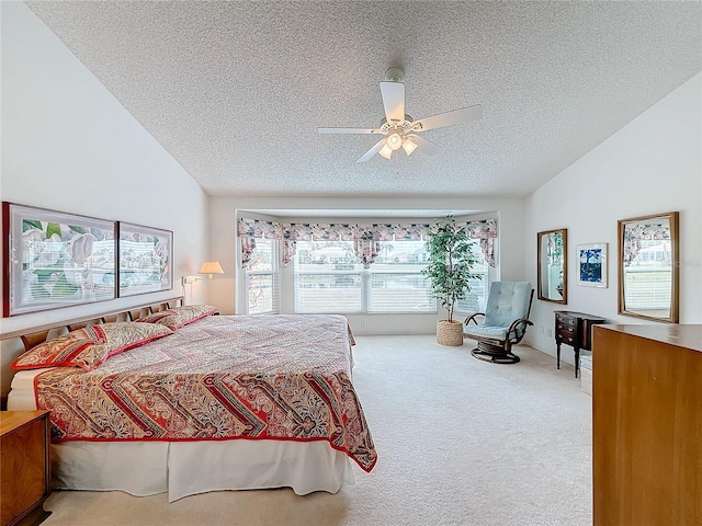
[[[305,197],[305,198],[265,198],[265,197],[211,197],[210,225],[212,229],[211,244],[213,258],[218,259],[225,268],[225,276],[210,284],[211,301],[218,306],[223,313],[242,312],[244,291],[237,294],[236,286],[241,276],[236,253],[235,227],[236,214],[240,209],[258,210],[335,210],[336,218],[344,217],[344,210],[367,210],[373,219],[373,210],[438,210],[461,209],[475,210],[475,218],[495,217],[498,220],[500,236],[501,265],[499,277],[502,279],[524,278],[524,237],[523,237],[523,199],[517,198],[465,198],[465,197],[426,197],[426,198],[343,198],[343,197]],[[473,217],[473,216],[472,216]],[[380,218],[377,218],[380,220]],[[354,218],[358,220],[358,218]],[[387,220],[384,217],[383,220]],[[235,300],[238,298],[238,302]],[[427,315],[373,315],[352,316],[349,322],[355,334],[430,334],[435,331],[435,322],[444,316]],[[360,321],[363,320],[363,327]]]

